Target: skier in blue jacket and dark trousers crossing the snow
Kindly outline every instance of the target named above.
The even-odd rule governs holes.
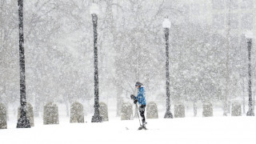
[[[141,82],[136,82],[135,86],[138,89],[138,95],[136,97],[136,96],[134,96],[134,94],[131,94],[130,98],[134,99],[134,104],[137,104],[137,102],[138,102],[139,114],[142,117],[142,126],[140,126],[138,128],[138,130],[142,130],[143,128],[146,129],[146,118],[145,118],[146,98],[145,98],[145,90],[144,90],[144,87],[142,86]]]

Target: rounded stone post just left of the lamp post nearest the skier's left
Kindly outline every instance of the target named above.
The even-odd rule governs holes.
[[[84,123],[83,106],[79,102],[74,102],[70,107],[70,123]]]

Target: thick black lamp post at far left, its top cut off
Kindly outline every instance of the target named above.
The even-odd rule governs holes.
[[[26,73],[23,35],[23,0],[18,0],[18,30],[19,30],[19,65],[20,65],[20,102],[21,116],[17,128],[30,128],[30,121],[26,116]]]

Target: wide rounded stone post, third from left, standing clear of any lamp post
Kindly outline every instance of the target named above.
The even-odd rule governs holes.
[[[58,106],[56,104],[49,102],[44,106],[43,124],[58,124]]]

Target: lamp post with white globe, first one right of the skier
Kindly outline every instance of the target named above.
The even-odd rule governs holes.
[[[164,118],[173,118],[170,112],[170,74],[169,74],[169,30],[170,20],[165,18],[162,22],[166,39],[166,114]]]

